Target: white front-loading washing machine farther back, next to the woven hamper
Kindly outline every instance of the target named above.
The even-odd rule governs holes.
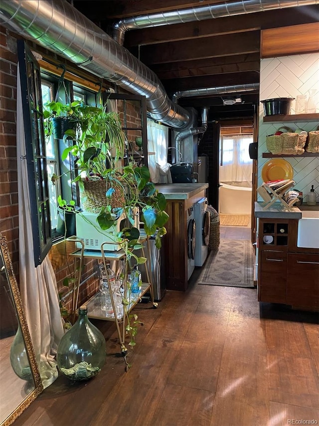
[[[204,197],[194,204],[196,223],[195,266],[202,266],[208,254],[210,213],[207,210],[208,201]]]

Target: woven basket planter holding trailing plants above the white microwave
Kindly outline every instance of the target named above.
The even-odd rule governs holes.
[[[86,212],[100,213],[102,207],[107,207],[110,204],[110,199],[106,198],[106,192],[111,186],[110,182],[105,179],[83,179],[83,185],[83,206]],[[125,198],[123,189],[118,185],[113,185],[113,188],[115,189],[115,192],[111,197],[112,208],[124,207]]]

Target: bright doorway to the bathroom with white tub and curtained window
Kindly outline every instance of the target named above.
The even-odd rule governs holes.
[[[221,127],[218,212],[220,224],[251,227],[253,126]]]

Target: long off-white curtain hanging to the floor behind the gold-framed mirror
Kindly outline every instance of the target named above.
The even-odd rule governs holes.
[[[19,70],[17,75],[16,145],[20,293],[41,380],[43,387],[46,388],[58,377],[54,355],[63,336],[63,323],[56,279],[48,256],[38,267],[34,266]]]

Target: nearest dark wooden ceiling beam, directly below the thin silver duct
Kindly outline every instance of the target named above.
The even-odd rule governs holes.
[[[319,6],[300,6],[127,31],[125,46],[143,46],[227,33],[316,22]]]

